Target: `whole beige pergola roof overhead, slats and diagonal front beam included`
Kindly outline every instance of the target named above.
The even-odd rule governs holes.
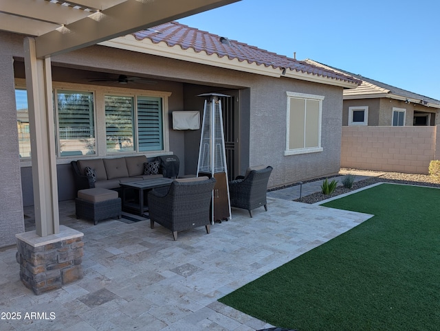
[[[239,0],[1,0],[0,30],[34,36],[47,58]]]

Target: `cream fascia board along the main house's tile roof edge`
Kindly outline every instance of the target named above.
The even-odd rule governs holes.
[[[255,62],[249,63],[247,61],[239,61],[238,59],[230,59],[228,56],[219,57],[217,54],[208,55],[206,52],[195,52],[194,49],[182,49],[179,45],[173,47],[168,46],[164,42],[153,43],[150,39],[144,38],[138,41],[134,36],[127,35],[110,41],[104,41],[99,45],[126,49],[133,52],[144,54],[151,54],[155,56],[164,56],[166,58],[174,58],[176,60],[184,60],[188,62],[199,63],[203,65],[210,65],[214,67],[221,67],[225,69],[232,69],[236,71],[244,71],[248,73],[256,73],[258,75],[270,76],[274,78],[286,77],[298,80],[307,80],[308,82],[318,82],[320,84],[335,85],[354,89],[358,84],[353,82],[344,82],[332,78],[325,78],[323,76],[312,75],[310,73],[303,73],[298,71],[287,71],[282,75],[283,69],[273,68],[272,66],[265,67],[265,65],[256,65]]]

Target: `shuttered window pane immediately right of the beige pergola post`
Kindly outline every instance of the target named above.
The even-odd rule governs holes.
[[[58,156],[96,154],[94,93],[56,91]]]

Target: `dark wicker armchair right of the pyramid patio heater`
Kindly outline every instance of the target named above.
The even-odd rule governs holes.
[[[238,176],[229,182],[231,207],[248,209],[252,217],[252,209],[264,206],[267,212],[267,182],[269,181],[272,167],[268,166],[259,170],[250,170],[246,176]]]

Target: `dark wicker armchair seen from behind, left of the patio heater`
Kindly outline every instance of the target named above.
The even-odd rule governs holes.
[[[193,179],[176,179],[162,190],[148,192],[148,208],[151,229],[154,222],[173,231],[177,240],[177,231],[206,227],[210,233],[210,203],[215,179],[197,177]]]

